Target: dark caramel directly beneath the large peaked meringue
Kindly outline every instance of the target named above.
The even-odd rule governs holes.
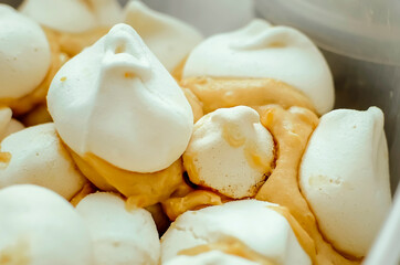
[[[97,188],[118,191],[127,199],[127,208],[145,208],[167,200],[180,186],[186,186],[180,159],[167,169],[138,173],[119,169],[102,158],[86,153],[80,157],[70,149],[81,172]]]

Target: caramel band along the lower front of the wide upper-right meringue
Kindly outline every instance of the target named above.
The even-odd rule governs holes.
[[[263,106],[278,104],[315,110],[313,103],[301,91],[271,78],[212,78],[191,77],[180,82],[202,102],[206,114],[218,108]]]

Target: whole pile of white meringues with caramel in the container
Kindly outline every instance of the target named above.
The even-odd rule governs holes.
[[[0,104],[1,265],[360,264],[391,206],[382,112],[263,20],[0,4]]]

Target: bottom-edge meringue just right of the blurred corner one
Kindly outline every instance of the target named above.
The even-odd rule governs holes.
[[[94,265],[158,264],[158,232],[146,210],[127,211],[123,199],[106,192],[85,197],[76,210],[91,232]]]

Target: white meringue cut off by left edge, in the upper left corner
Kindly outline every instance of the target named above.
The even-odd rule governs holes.
[[[43,30],[7,4],[0,4],[0,98],[23,97],[46,76],[51,52]]]

